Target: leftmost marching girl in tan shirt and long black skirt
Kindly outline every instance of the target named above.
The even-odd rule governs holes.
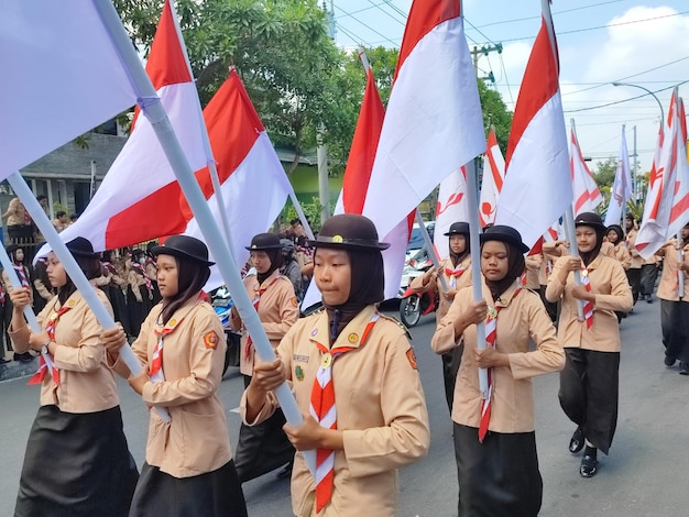
[[[66,245],[87,278],[100,274],[89,241],[77,238]],[[57,296],[36,317],[40,333],[29,329],[22,312],[31,302],[29,288],[11,294],[15,350],[50,358],[42,359],[30,381],[41,385],[41,407],[29,435],[14,515],[123,517],[138,472],[122,430],[114,375],[106,364],[102,328],[57,256],[51,252],[47,260]],[[96,290],[112,315],[105,294]]]

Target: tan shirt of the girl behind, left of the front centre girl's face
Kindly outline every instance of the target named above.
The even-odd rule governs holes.
[[[261,285],[259,285],[256,276],[248,276],[244,278],[244,288],[247,289],[249,299],[252,301],[259,297],[261,288],[265,288],[259,301],[259,319],[263,324],[263,330],[265,330],[273,349],[276,349],[280,344],[280,340],[283,339],[287,330],[289,330],[299,318],[299,306],[294,295],[292,282],[275,270]],[[230,328],[243,332],[239,370],[244,375],[253,375],[255,351],[253,344],[249,345],[249,351],[247,350],[249,333],[236,310],[230,312]]]

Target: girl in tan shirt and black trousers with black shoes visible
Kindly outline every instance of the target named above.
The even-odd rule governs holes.
[[[579,256],[560,257],[550,275],[546,297],[562,300],[558,338],[567,353],[560,373],[560,406],[577,429],[569,442],[576,454],[584,448],[579,473],[598,472],[598,450],[610,449],[617,425],[620,329],[615,311],[632,309],[632,289],[619,261],[601,253],[605,226],[583,212],[575,220]],[[581,285],[575,283],[581,273]],[[579,318],[579,305],[583,318]]]

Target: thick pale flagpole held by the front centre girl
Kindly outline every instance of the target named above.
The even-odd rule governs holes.
[[[216,224],[210,208],[208,207],[208,202],[206,201],[206,198],[196,182],[194,172],[192,170],[182,146],[177,141],[177,136],[175,135],[172,124],[167,119],[165,109],[161,105],[161,100],[157,97],[149,76],[141,66],[139,56],[136,55],[129,36],[124,32],[124,28],[122,26],[112,3],[109,0],[94,0],[94,6],[100,15],[103,26],[110,35],[124,68],[129,73],[130,82],[139,97],[139,106],[141,107],[144,116],[151,122],[151,127],[155,131],[161,146],[163,147],[175,173],[177,182],[185,194],[187,202],[189,204],[194,216],[198,220],[198,226],[204,234],[206,244],[217,261],[218,270],[232,294],[232,299],[234,300],[237,309],[244,321],[247,330],[252,337],[256,353],[263,361],[274,361],[276,359],[275,352],[265,336],[265,330],[261,324],[259,315],[253,308],[253,304],[249,299],[249,295],[244,289],[237,262],[228,249],[220,229]],[[293,426],[300,425],[304,419],[302,418],[299,408],[287,383],[283,383],[275,389],[274,393],[287,421]],[[315,474],[316,452],[305,451],[304,457],[311,474]]]

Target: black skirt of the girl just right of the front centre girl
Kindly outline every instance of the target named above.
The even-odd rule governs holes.
[[[536,433],[489,432],[479,442],[475,427],[455,422],[459,517],[538,515],[543,480]]]

